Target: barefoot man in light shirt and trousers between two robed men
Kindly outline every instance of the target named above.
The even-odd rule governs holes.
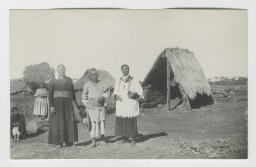
[[[110,86],[105,81],[99,81],[99,73],[95,68],[91,68],[88,72],[88,76],[91,81],[84,84],[82,102],[86,107],[87,118],[89,118],[88,124],[90,136],[91,136],[91,147],[96,146],[95,137],[101,137],[100,145],[108,146],[109,144],[105,141],[105,119],[106,119],[106,103],[105,99],[109,97]],[[104,106],[105,105],[105,106]]]

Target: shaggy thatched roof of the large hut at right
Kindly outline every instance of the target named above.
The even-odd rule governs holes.
[[[211,94],[210,85],[194,53],[188,51],[188,49],[180,48],[166,48],[162,51],[150,72],[144,78],[143,86],[146,86],[154,80],[154,71],[162,67],[165,58],[167,58],[167,62],[170,63],[175,81],[182,86],[185,94],[190,99],[195,99],[197,92],[199,94],[205,93],[208,96]]]

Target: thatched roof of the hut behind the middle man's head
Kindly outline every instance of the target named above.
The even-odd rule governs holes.
[[[76,81],[76,83],[74,83],[75,90],[83,90],[84,83],[86,83],[87,81],[90,81],[90,78],[88,77],[89,70],[90,69],[87,69],[84,75],[81,76],[81,78],[79,78],[79,80]],[[115,78],[113,78],[107,71],[104,71],[104,70],[97,70],[97,71],[99,72],[99,80],[104,80],[107,84],[109,84],[109,86],[114,87],[116,82]]]

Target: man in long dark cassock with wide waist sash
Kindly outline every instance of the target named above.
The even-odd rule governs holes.
[[[65,66],[57,66],[58,76],[49,83],[50,128],[48,144],[55,147],[76,146],[78,142],[77,123],[72,100],[75,91],[72,79],[65,75]]]

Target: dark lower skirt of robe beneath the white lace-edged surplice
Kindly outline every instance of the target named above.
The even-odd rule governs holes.
[[[137,117],[123,118],[121,116],[116,116],[115,136],[138,137]]]

